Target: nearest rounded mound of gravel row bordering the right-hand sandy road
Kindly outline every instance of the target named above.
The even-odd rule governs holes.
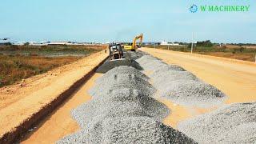
[[[159,88],[160,96],[183,106],[210,107],[221,105],[225,94],[210,84],[194,80],[166,82]]]

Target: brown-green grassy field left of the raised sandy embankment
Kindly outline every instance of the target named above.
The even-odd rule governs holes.
[[[0,87],[45,73],[104,48],[105,46],[0,46]],[[59,55],[53,57],[54,53]],[[69,54],[71,56],[66,56]]]

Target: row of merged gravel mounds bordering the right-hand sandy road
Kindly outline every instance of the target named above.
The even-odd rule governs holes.
[[[194,74],[177,65],[168,65],[158,58],[145,55],[137,62],[151,78],[161,97],[184,106],[210,107],[222,104],[226,95],[202,82]]]

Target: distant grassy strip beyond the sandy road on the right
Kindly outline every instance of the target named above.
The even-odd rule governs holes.
[[[154,48],[154,46],[146,46]],[[168,46],[155,46],[157,49],[168,50]],[[169,50],[190,52],[188,46],[169,46]],[[193,50],[196,54],[206,54],[223,58],[233,58],[243,61],[255,62],[256,49],[245,48],[243,46],[211,46],[211,47],[195,47]]]

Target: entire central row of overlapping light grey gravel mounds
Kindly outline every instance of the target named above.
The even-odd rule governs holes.
[[[99,78],[93,99],[71,112],[82,130],[57,143],[195,143],[162,124],[170,110],[152,98],[146,75],[134,70],[120,66]]]

